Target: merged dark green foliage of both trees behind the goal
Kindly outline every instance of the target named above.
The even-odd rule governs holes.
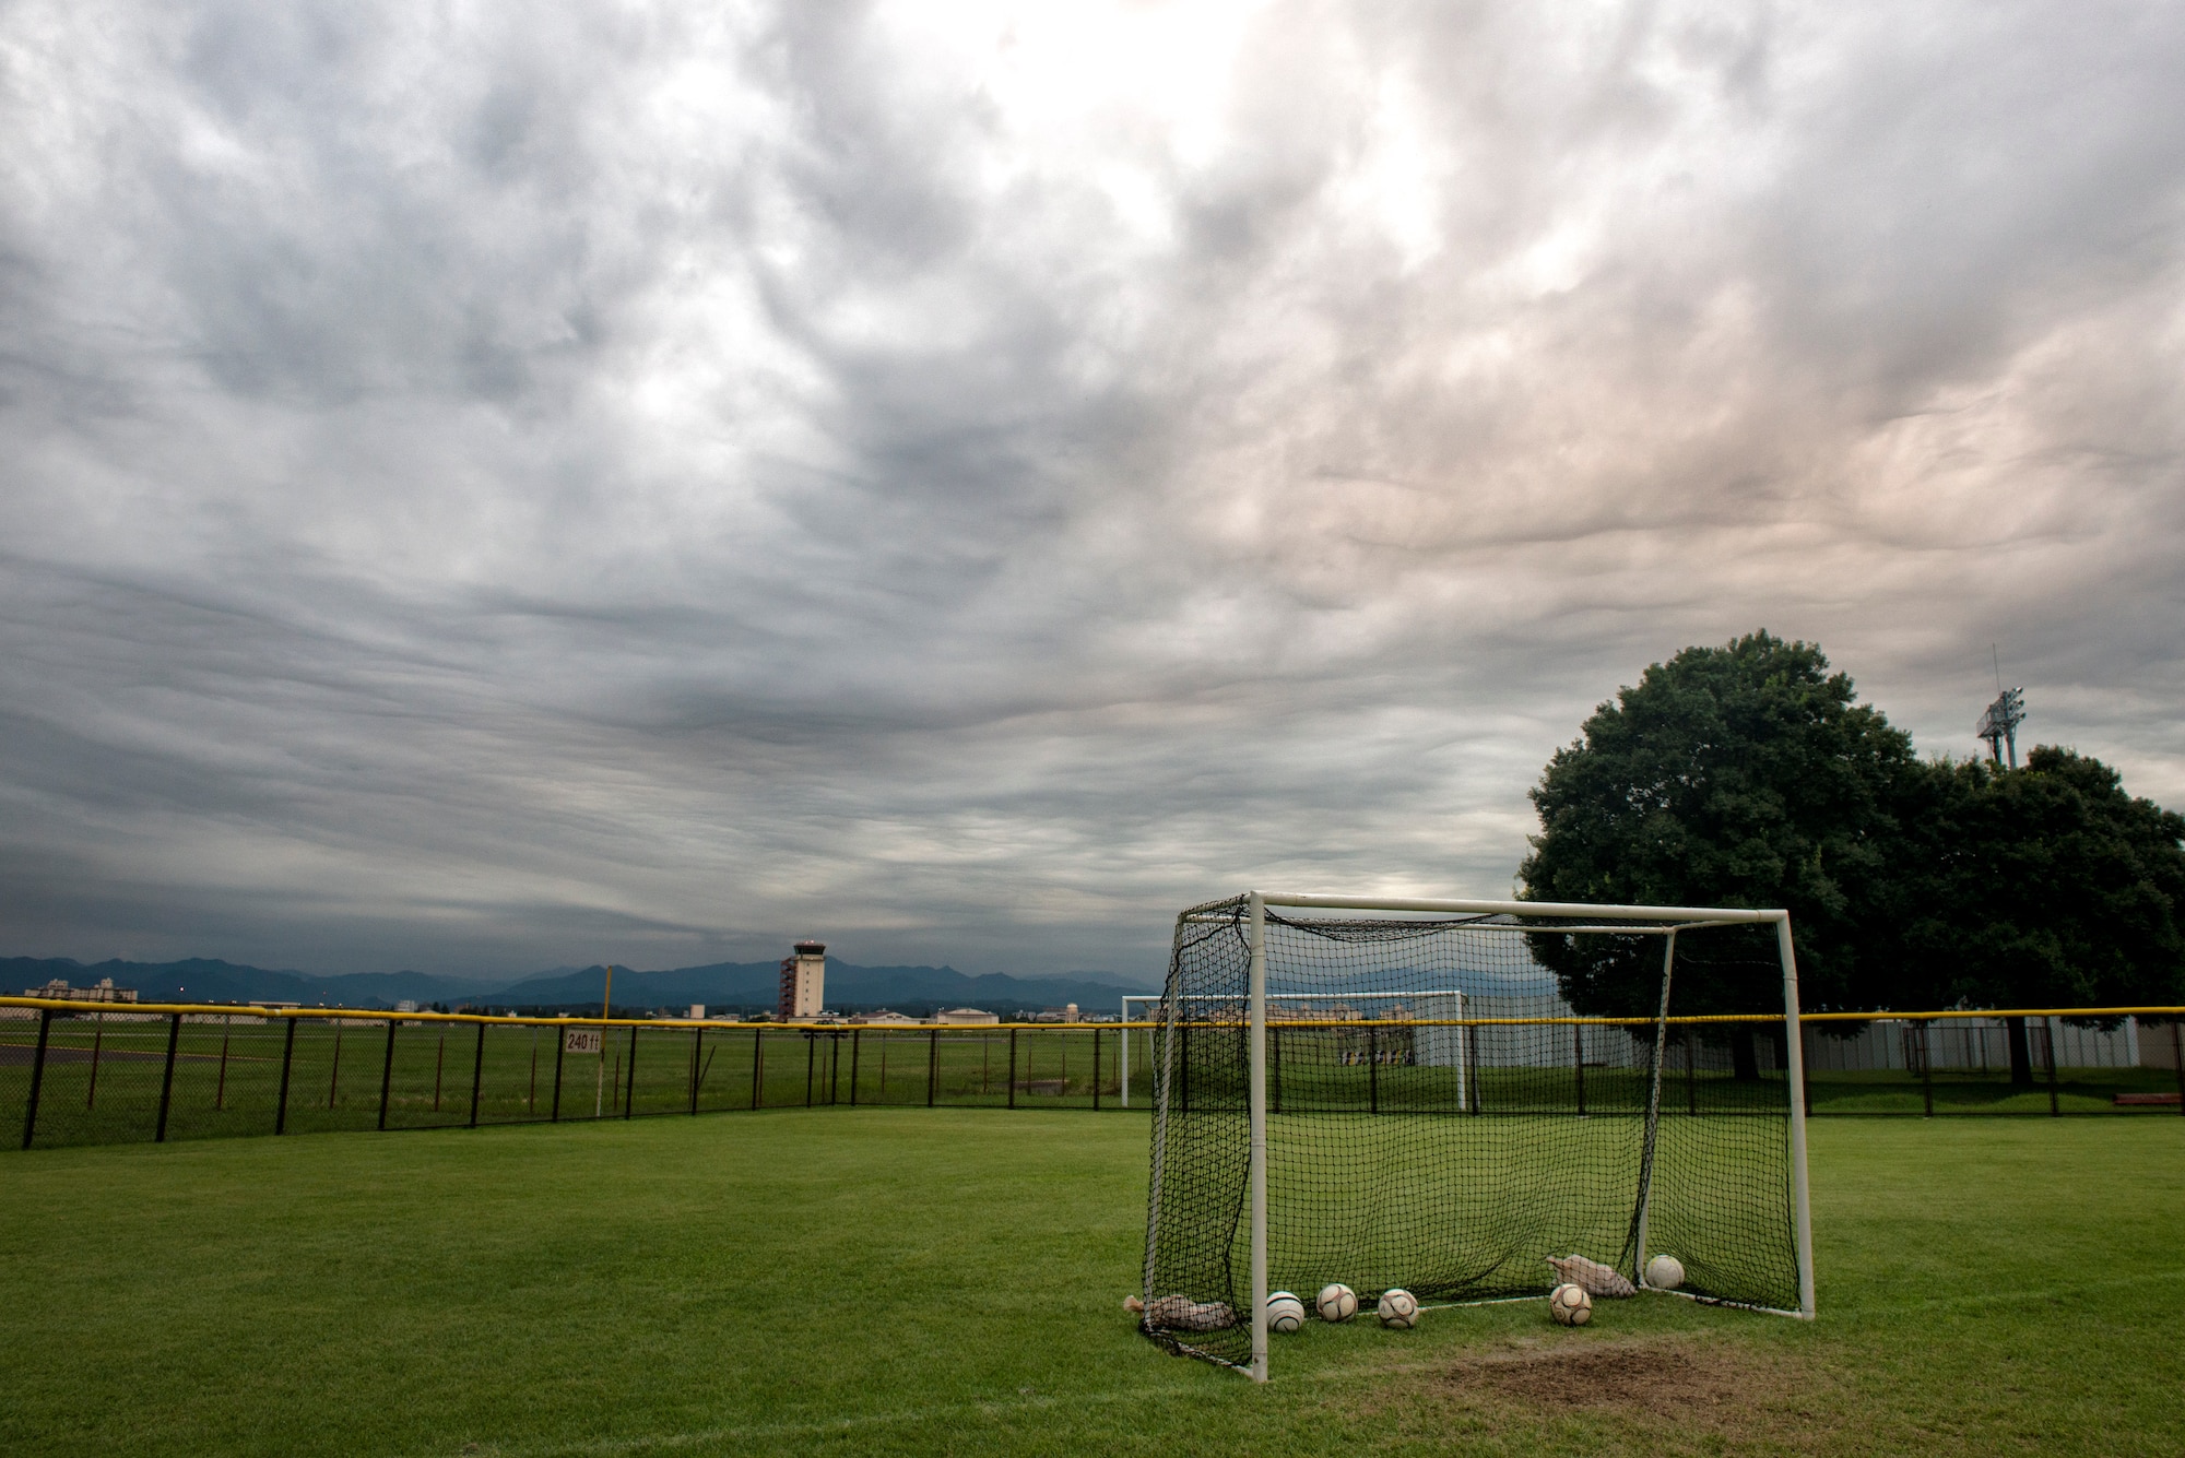
[[[1650,666],[1532,801],[1523,899],[1787,908],[1809,1011],[2185,1002],[2185,816],[2069,749],[1921,762],[1816,644]],[[1580,1013],[1658,987],[1656,949],[1540,936],[1536,956]],[[1774,1011],[1761,960],[1680,949],[1678,1011]]]

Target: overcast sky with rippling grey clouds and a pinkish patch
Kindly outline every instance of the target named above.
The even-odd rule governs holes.
[[[2185,803],[2185,7],[0,9],[0,954],[1154,971],[1685,644]]]

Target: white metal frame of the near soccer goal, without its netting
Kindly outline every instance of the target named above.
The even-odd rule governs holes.
[[[1248,893],[1243,897],[1232,897],[1232,899],[1213,901],[1213,904],[1206,904],[1206,906],[1200,906],[1200,908],[1191,908],[1191,910],[1186,910],[1186,912],[1182,912],[1178,917],[1178,943],[1176,943],[1178,945],[1178,954],[1176,954],[1178,958],[1182,958],[1182,949],[1186,945],[1186,932],[1191,932],[1193,925],[1204,928],[1204,925],[1210,925],[1215,921],[1235,923],[1235,932],[1241,932],[1241,936],[1243,936],[1243,947],[1239,947],[1239,954],[1248,956],[1245,976],[1241,980],[1241,987],[1237,989],[1237,991],[1243,993],[1243,997],[1237,997],[1235,993],[1208,995],[1208,993],[1191,993],[1191,991],[1186,991],[1186,980],[1184,980],[1184,976],[1180,971],[1182,963],[1180,960],[1171,960],[1169,991],[1162,993],[1162,997],[1136,997],[1134,995],[1134,997],[1125,997],[1123,1000],[1125,1021],[1130,1021],[1130,1008],[1132,1008],[1132,1004],[1154,1004],[1154,1006],[1158,1006],[1162,1037],[1165,1037],[1165,1041],[1156,1050],[1158,1056],[1156,1056],[1156,1069],[1154,1069],[1154,1120],[1156,1120],[1156,1131],[1154,1131],[1154,1161],[1151,1161],[1151,1170],[1149,1170],[1149,1218],[1147,1218],[1147,1257],[1145,1257],[1145,1288],[1147,1288],[1145,1290],[1145,1299],[1147,1301],[1154,1301],[1154,1296],[1162,1294],[1162,1292],[1156,1290],[1156,1244],[1162,1240],[1162,1220],[1165,1220],[1162,1187],[1165,1187],[1165,1181],[1173,1183],[1176,1179],[1189,1179],[1189,1176],[1206,1179],[1202,1172],[1195,1172],[1195,1170],[1180,1170],[1178,1172],[1178,1170],[1167,1170],[1165,1168],[1165,1150],[1169,1146],[1169,1120],[1171,1120],[1171,1113],[1176,1118],[1182,1118],[1182,1120],[1210,1118],[1204,1111],[1195,1111],[1193,1102],[1191,1102],[1193,1100],[1193,1096],[1191,1096],[1191,1078],[1202,1076],[1202,1074],[1193,1074],[1191,1072],[1191,1067],[1193,1067],[1193,1063],[1191,1063],[1193,1054],[1191,1054],[1189,1037],[1191,1037],[1191,1026],[1210,1028],[1213,1024],[1210,1021],[1197,1021],[1197,1015],[1191,1011],[1191,1002],[1193,1000],[1197,1000],[1197,1002],[1224,1002],[1228,1008],[1235,1008],[1235,1013],[1243,1015],[1243,1024],[1245,1024],[1243,1026],[1243,1035],[1245,1035],[1245,1039],[1243,1039],[1245,1041],[1243,1074],[1245,1074],[1245,1113],[1248,1113],[1248,1118],[1245,1118],[1245,1131],[1243,1133],[1245,1133],[1245,1139],[1248,1139],[1248,1150],[1245,1150],[1245,1190],[1241,1194],[1245,1196],[1243,1203],[1248,1207],[1248,1220],[1250,1220],[1250,1281],[1248,1281],[1248,1288],[1250,1288],[1250,1364],[1248,1364],[1248,1371],[1250,1371],[1250,1375],[1252,1375],[1254,1382],[1265,1382],[1267,1379],[1267,1290],[1269,1290],[1269,1255],[1267,1255],[1267,1246],[1269,1246],[1269,1231],[1267,1231],[1267,1218],[1269,1218],[1267,1216],[1267,1174],[1269,1174],[1269,1170],[1267,1170],[1267,1159],[1269,1159],[1269,1155],[1267,1155],[1267,1118],[1269,1118],[1269,1091],[1267,1091],[1267,1072],[1269,1072],[1269,1067],[1267,1067],[1267,1032],[1269,1032],[1269,1017],[1267,1017],[1267,1004],[1269,1004],[1269,991],[1267,991],[1267,976],[1269,976],[1267,973],[1267,945],[1269,945],[1269,941],[1267,941],[1267,923],[1269,923],[1269,917],[1267,917],[1267,912],[1269,912],[1269,908],[1304,910],[1304,912],[1359,912],[1363,919],[1348,919],[1348,921],[1339,923],[1344,928],[1350,928],[1353,932],[1357,932],[1359,928],[1372,930],[1372,919],[1374,917],[1390,917],[1390,921],[1394,925],[1401,925],[1398,919],[1409,915],[1409,917],[1477,919],[1477,923],[1466,923],[1466,925],[1457,925],[1453,921],[1444,921],[1440,925],[1464,930],[1464,932],[1473,932],[1473,930],[1477,930],[1477,932],[1505,932],[1505,934],[1514,932],[1521,939],[1525,934],[1534,934],[1536,936],[1540,932],[1606,932],[1606,934],[1615,934],[1615,936],[1661,936],[1663,939],[1663,984],[1661,984],[1661,1006],[1658,1006],[1658,1013],[1654,1017],[1623,1017],[1623,1019],[1586,1019],[1586,1017],[1497,1019],[1497,1017],[1473,1015],[1473,1011],[1466,1008],[1464,1002],[1457,1002],[1455,1004],[1455,1013],[1449,1015],[1449,1017],[1433,1015],[1433,1017],[1427,1017],[1427,1019],[1407,1019],[1407,1021],[1412,1021],[1416,1026],[1462,1026],[1466,1030],[1466,1035],[1477,1035],[1479,1026],[1484,1026],[1484,1024],[1497,1024],[1497,1021],[1571,1024],[1573,1026],[1571,1028],[1571,1037],[1573,1037],[1575,1050],[1578,1050],[1575,1052],[1575,1061],[1578,1061],[1578,1080],[1580,1080],[1580,1104],[1578,1104],[1580,1118],[1584,1118],[1584,1111],[1586,1111],[1586,1104],[1584,1104],[1586,1028],[1582,1024],[1588,1024],[1588,1021],[1615,1021],[1615,1024],[1621,1024],[1626,1028],[1626,1032],[1630,1032],[1630,1028],[1637,1026],[1639,1030],[1632,1032],[1632,1039],[1641,1039],[1647,1032],[1652,1032],[1652,1039],[1650,1039],[1652,1041],[1652,1052],[1650,1052],[1650,1067],[1652,1067],[1652,1072],[1647,1076],[1650,1087],[1645,1091],[1645,1109],[1643,1109],[1645,1120],[1647,1120],[1647,1124],[1645,1124],[1647,1135],[1645,1137],[1647,1137],[1647,1159],[1650,1161],[1652,1161],[1652,1148],[1654,1148],[1652,1146],[1654,1126],[1656,1126],[1658,1115],[1661,1115],[1661,1096],[1663,1096],[1663,1087],[1661,1085],[1663,1085],[1663,1063],[1665,1063],[1665,1048],[1667,1048],[1669,1024],[1672,1021],[1704,1021],[1704,1019],[1672,1019],[1669,1017],[1669,976],[1672,976],[1672,963],[1674,963],[1674,956],[1676,956],[1676,936],[1680,932],[1698,932],[1702,928],[1737,928],[1737,925],[1746,925],[1746,928],[1755,928],[1755,932],[1757,932],[1759,928],[1770,928],[1772,925],[1772,930],[1774,930],[1774,939],[1772,939],[1774,941],[1774,958],[1772,960],[1776,960],[1781,965],[1781,987],[1783,987],[1781,1074],[1783,1074],[1783,1083],[1785,1083],[1785,1089],[1787,1089],[1787,1109],[1783,1109],[1781,1113],[1787,1115],[1787,1176],[1790,1176],[1790,1192],[1787,1192],[1790,1194],[1790,1211],[1787,1214],[1790,1214],[1790,1224],[1792,1224],[1790,1235],[1792,1235],[1794,1251],[1796,1251],[1796,1303],[1798,1305],[1796,1305],[1796,1312],[1790,1312],[1790,1314],[1807,1316],[1807,1318],[1814,1316],[1814,1257],[1811,1257],[1814,1235],[1811,1235],[1811,1205],[1809,1205],[1809,1185],[1807,1185],[1807,1150],[1805,1150],[1807,1135],[1805,1135],[1805,1098],[1803,1098],[1803,1089],[1805,1089],[1805,1061],[1803,1061],[1803,1045],[1800,1045],[1800,1030],[1798,1030],[1798,969],[1796,969],[1796,956],[1794,956],[1794,949],[1792,949],[1790,912],[1785,912],[1785,910],[1748,910],[1748,908],[1709,908],[1709,906],[1586,906],[1586,904],[1556,904],[1556,901],[1471,901],[1471,899],[1418,899],[1418,897],[1335,897],[1335,895],[1285,895],[1285,893],[1256,893],[1254,891],[1254,893]],[[1197,919],[1197,921],[1193,921],[1193,919]],[[1503,921],[1492,921],[1490,923],[1488,919],[1503,919]],[[1285,928],[1291,928],[1291,930],[1296,930],[1300,925],[1311,925],[1309,919],[1304,919],[1304,921],[1283,919],[1283,921],[1285,921]],[[1543,923],[1551,923],[1551,925],[1543,928]],[[1235,943],[1228,943],[1228,945],[1235,945]],[[1235,967],[1235,965],[1230,965],[1230,967]],[[1235,984],[1224,982],[1221,987],[1235,987]],[[1337,1000],[1339,997],[1339,1000],[1346,1000],[1346,1002],[1359,1002],[1368,993],[1363,993],[1363,991],[1300,993],[1300,991],[1283,989],[1283,991],[1274,993],[1272,1002],[1287,1004],[1287,1002],[1307,1002],[1311,997],[1326,997],[1326,1000]],[[1420,1002],[1420,1000],[1425,1000],[1425,997],[1460,997],[1460,1000],[1464,997],[1464,993],[1460,993],[1457,989],[1449,987],[1446,982],[1438,982],[1436,989],[1431,989],[1431,991],[1422,989],[1422,991],[1409,991],[1409,993],[1374,993],[1374,995],[1407,997],[1414,1004]],[[1239,1002],[1243,1006],[1239,1006]],[[1235,1037],[1235,1013],[1228,1019],[1224,1019],[1226,1026],[1232,1028],[1230,1037]],[[1442,1013],[1442,1008],[1436,1008],[1436,1013]],[[1772,1013],[1768,1017],[1772,1019]],[[1746,1015],[1744,1021],[1750,1024],[1752,1017]],[[1333,1024],[1315,1024],[1315,1026],[1333,1026]],[[1182,1037],[1186,1039],[1184,1045],[1182,1045],[1182,1063],[1178,1063],[1178,1054],[1176,1054],[1178,1030],[1182,1030]],[[1564,1045],[1569,1048],[1569,1041]],[[1130,1076],[1127,1074],[1127,1048],[1130,1048],[1130,1032],[1127,1030],[1123,1035],[1123,1048],[1125,1048],[1125,1054],[1123,1054],[1125,1063],[1123,1063],[1121,1072],[1123,1072],[1125,1089],[1127,1089],[1127,1076]],[[1685,1052],[1685,1059],[1687,1059],[1687,1078],[1689,1078],[1691,1056],[1693,1056],[1691,1054],[1691,1043],[1687,1041],[1687,1052]],[[1180,1072],[1176,1072],[1176,1069],[1180,1069]],[[1460,1078],[1464,1074],[1460,1074]],[[1171,1109],[1171,1089],[1178,1085],[1178,1080],[1182,1080],[1184,1094],[1182,1094],[1180,1104],[1176,1104],[1176,1109]],[[1125,1094],[1125,1098],[1127,1098],[1127,1094]],[[1475,1102],[1473,1102],[1471,1111],[1473,1113],[1479,1111],[1477,1109],[1477,1096],[1475,1096]],[[1779,1144],[1774,1148],[1781,1150],[1783,1146]],[[1230,1166],[1230,1168],[1235,1168],[1235,1166]],[[1230,1190],[1232,1187],[1235,1185],[1230,1185]],[[1173,1198],[1180,1198],[1180,1200],[1184,1200],[1189,1205],[1191,1200],[1200,1198],[1200,1192],[1197,1192],[1197,1187],[1182,1187],[1180,1185],[1178,1194]],[[1647,1242],[1647,1211],[1650,1211],[1650,1205],[1652,1205],[1652,1185],[1650,1185],[1647,1176],[1641,1176],[1641,1187],[1639,1187],[1639,1194],[1637,1194],[1637,1209],[1634,1209],[1637,1264],[1641,1268],[1643,1268],[1643,1264],[1647,1259],[1647,1244],[1645,1242]],[[1184,1214],[1189,1216],[1189,1209]],[[1781,1227],[1776,1227],[1776,1229],[1781,1229]],[[1186,1240],[1189,1240],[1189,1233],[1186,1233]],[[1781,1266],[1776,1270],[1781,1270]],[[1790,1272],[1783,1270],[1783,1275],[1790,1275]],[[1235,1290],[1235,1288],[1230,1288],[1230,1290]],[[1243,1292],[1235,1292],[1235,1294],[1243,1294]],[[1787,1296],[1790,1292],[1783,1290],[1783,1294]],[[1702,1294],[1700,1299],[1709,1299],[1709,1296]],[[1235,1296],[1228,1296],[1228,1301],[1235,1303]],[[1759,1301],[1735,1301],[1735,1303],[1763,1305]],[[1765,1310],[1783,1310],[1783,1307],[1776,1305],[1776,1303],[1765,1303]],[[1241,1316],[1241,1314],[1237,1314],[1237,1316]],[[1193,1351],[1195,1355],[1213,1355],[1215,1360],[1224,1360],[1224,1362],[1228,1362],[1232,1366],[1245,1366],[1243,1362],[1235,1362],[1235,1355],[1241,1355],[1241,1353],[1235,1353],[1232,1347],[1228,1351],[1232,1351],[1235,1355],[1219,1355],[1219,1353],[1213,1353],[1213,1351],[1197,1349],[1197,1347],[1193,1347],[1189,1342],[1178,1342],[1176,1340],[1176,1331],[1156,1331],[1151,1327],[1151,1323],[1147,1323],[1143,1329],[1147,1331],[1147,1336],[1158,1336],[1160,1340],[1167,1340],[1169,1345],[1173,1345],[1178,1349]],[[1224,1338],[1224,1340],[1232,1340],[1232,1338]]]

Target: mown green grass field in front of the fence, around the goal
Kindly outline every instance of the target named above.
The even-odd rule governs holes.
[[[0,1163],[0,1451],[2185,1454],[2185,1120],[1818,1122],[1818,1323],[1121,1299],[1130,1115],[824,1109]]]

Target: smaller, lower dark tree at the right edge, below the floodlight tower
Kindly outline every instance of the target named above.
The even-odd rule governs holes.
[[[2021,770],[1932,764],[1905,810],[1905,967],[1923,1000],[2185,1000],[2185,816],[2126,794],[2100,760],[2047,744]],[[2032,1080],[2017,1017],[2010,1076]]]

